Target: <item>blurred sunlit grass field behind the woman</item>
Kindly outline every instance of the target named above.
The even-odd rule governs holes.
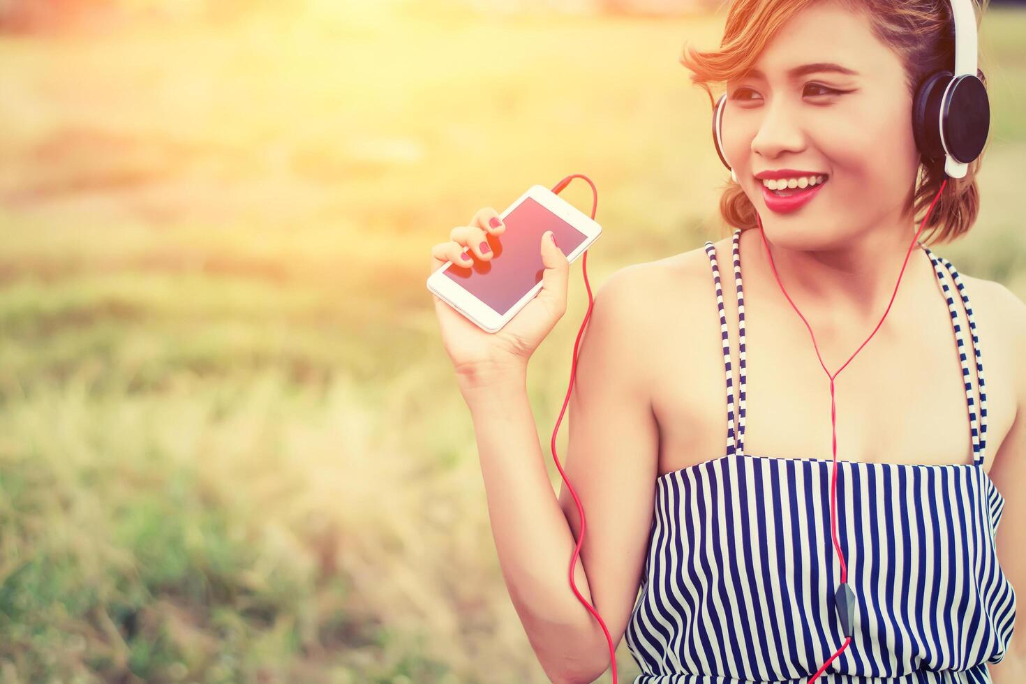
[[[0,38],[0,682],[547,681],[429,250],[574,172],[593,289],[724,235],[677,63],[723,16],[306,7]],[[1024,33],[984,17],[982,212],[936,247],[1021,298]],[[580,268],[528,377],[554,484]]]

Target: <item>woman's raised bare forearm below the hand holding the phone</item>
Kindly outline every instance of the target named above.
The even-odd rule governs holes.
[[[569,586],[576,541],[546,471],[526,368],[481,385],[465,380],[461,391],[474,423],[499,562],[528,640],[553,681],[590,682],[608,661],[607,645]],[[580,557],[574,581],[591,603]]]

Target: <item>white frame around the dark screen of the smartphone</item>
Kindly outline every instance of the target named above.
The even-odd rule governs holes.
[[[602,234],[601,226],[545,186],[536,185],[528,188],[523,195],[518,197],[515,202],[506,208],[505,211],[499,214],[500,218],[505,218],[507,214],[513,211],[513,209],[515,209],[527,198],[535,200],[585,236],[584,241],[582,241],[581,244],[574,249],[574,251],[566,254],[566,260],[570,264],[577,260],[577,258],[581,256],[581,254],[583,254],[585,250],[588,249],[588,247],[590,247]],[[505,232],[503,235],[505,235]],[[539,247],[541,247],[541,245],[539,245]],[[477,260],[476,256],[471,255],[471,258]],[[530,299],[534,298],[535,295],[537,295],[542,289],[543,283],[542,281],[538,281],[538,283],[527,290],[527,292],[525,292],[516,304],[510,307],[509,311],[505,314],[500,314],[495,309],[478,299],[472,293],[465,290],[457,284],[456,281],[445,276],[445,269],[450,266],[452,266],[452,261],[446,261],[443,266],[439,267],[438,270],[428,276],[428,289],[465,317],[470,319],[478,327],[487,332],[498,332],[501,330],[502,327],[506,325],[510,319],[516,316],[517,312],[523,309],[524,306],[526,306],[526,304],[530,301]]]

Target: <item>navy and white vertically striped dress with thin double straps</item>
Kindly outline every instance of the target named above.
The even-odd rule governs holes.
[[[830,534],[832,458],[745,453],[745,306],[738,244],[740,394],[716,250],[706,242],[726,369],[726,453],[666,473],[640,592],[626,639],[634,684],[804,684],[844,641],[833,607],[840,563]],[[837,460],[837,535],[856,610],[852,643],[820,684],[990,682],[1005,653],[1016,594],[995,554],[1004,499],[983,469],[986,385],[961,278],[919,243],[947,298],[964,378],[973,462],[942,466]],[[979,375],[956,320],[957,288]],[[910,407],[914,409],[914,407]]]

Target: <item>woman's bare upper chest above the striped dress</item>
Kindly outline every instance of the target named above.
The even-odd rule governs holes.
[[[970,285],[966,284],[966,289]],[[659,473],[723,455],[727,448],[727,387],[715,292],[707,306],[669,325],[656,346],[653,410],[660,430]],[[983,289],[983,288],[978,288]],[[855,355],[875,323],[833,330],[810,308],[802,311],[819,347],[790,305],[786,309],[745,287],[744,450],[750,455],[832,457],[831,411],[835,412],[837,459],[872,462],[972,464],[973,443],[962,364],[951,315],[940,291],[895,305],[872,338]],[[982,292],[970,291],[987,395],[984,470],[1015,418],[1016,394],[1008,340]],[[735,415],[740,408],[737,297],[724,287],[731,340]],[[800,308],[800,304],[799,304]],[[973,381],[979,418],[978,379],[971,328],[960,303],[955,319]],[[819,318],[819,320],[818,320]],[[878,318],[876,319],[879,320]],[[821,323],[818,325],[818,323]],[[686,351],[686,353],[682,353]],[[820,362],[822,358],[822,364]],[[830,373],[837,373],[831,400]],[[833,403],[831,403],[831,401]]]

